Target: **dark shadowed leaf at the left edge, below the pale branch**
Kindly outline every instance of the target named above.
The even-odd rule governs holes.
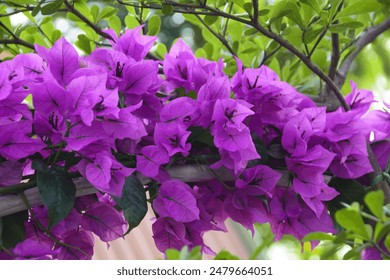
[[[27,219],[27,211],[1,218],[3,230],[0,232],[0,241],[5,248],[13,248],[16,244],[24,240],[26,235],[24,223]]]

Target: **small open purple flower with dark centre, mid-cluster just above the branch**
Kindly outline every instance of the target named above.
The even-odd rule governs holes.
[[[177,122],[157,123],[154,131],[154,142],[164,148],[169,156],[181,153],[189,154],[191,144],[186,143],[191,132]]]

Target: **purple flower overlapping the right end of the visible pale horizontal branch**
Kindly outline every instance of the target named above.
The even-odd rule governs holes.
[[[244,170],[236,180],[239,189],[245,189],[251,195],[272,197],[272,191],[282,175],[265,165],[256,165]]]

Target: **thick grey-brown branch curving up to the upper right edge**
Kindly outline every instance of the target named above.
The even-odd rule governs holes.
[[[353,61],[358,54],[370,43],[372,43],[380,34],[390,29],[390,17],[387,18],[381,24],[370,27],[367,31],[356,41],[353,45],[355,50],[344,60],[338,70],[338,75],[335,77],[335,84],[338,87],[342,87],[348,72],[352,66]]]

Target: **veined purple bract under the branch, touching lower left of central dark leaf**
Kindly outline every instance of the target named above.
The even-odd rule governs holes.
[[[123,237],[128,228],[123,215],[104,203],[95,203],[86,210],[82,214],[81,225],[99,236],[103,242]]]

